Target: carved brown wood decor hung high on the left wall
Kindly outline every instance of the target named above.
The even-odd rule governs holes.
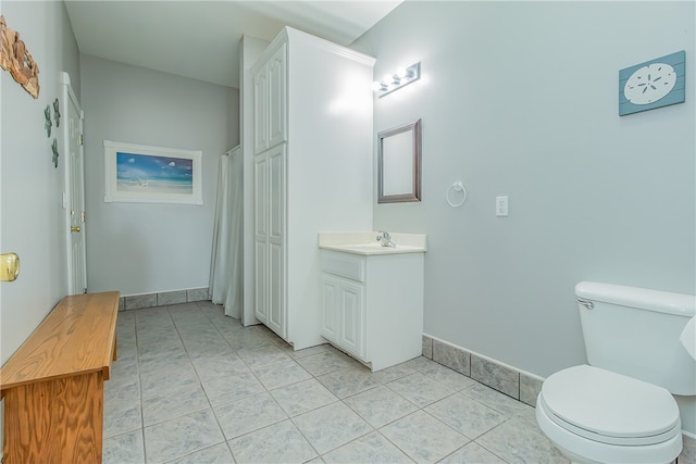
[[[20,33],[8,27],[4,16],[0,15],[0,67],[9,71],[14,80],[34,98],[39,97],[39,65],[32,58]]]

